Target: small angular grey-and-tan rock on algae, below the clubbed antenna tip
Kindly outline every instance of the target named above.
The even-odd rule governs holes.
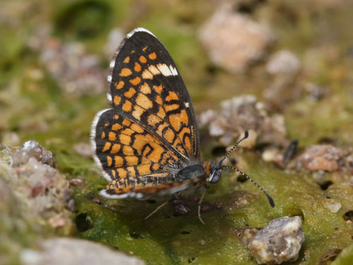
[[[249,242],[249,249],[258,264],[281,264],[298,259],[304,232],[301,218],[287,216],[270,221]]]

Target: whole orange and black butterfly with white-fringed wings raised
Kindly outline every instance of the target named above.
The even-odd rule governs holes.
[[[110,63],[108,83],[112,108],[97,113],[91,131],[95,161],[109,181],[102,196],[174,194],[218,182],[224,168],[237,170],[222,166],[225,158],[201,160],[188,90],[150,31],[136,28],[126,35]]]

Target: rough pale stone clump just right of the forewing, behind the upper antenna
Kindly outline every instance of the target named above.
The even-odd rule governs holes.
[[[208,126],[211,136],[219,136],[226,146],[234,143],[244,131],[249,131],[245,148],[256,144],[268,144],[285,148],[285,118],[281,114],[268,114],[265,105],[253,95],[241,95],[221,102],[220,111],[208,110],[201,113],[201,126]],[[245,142],[245,141],[244,141]]]

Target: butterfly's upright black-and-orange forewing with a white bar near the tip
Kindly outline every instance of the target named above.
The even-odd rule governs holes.
[[[145,30],[135,30],[112,60],[112,105],[140,124],[182,160],[199,159],[191,99],[167,49]]]

